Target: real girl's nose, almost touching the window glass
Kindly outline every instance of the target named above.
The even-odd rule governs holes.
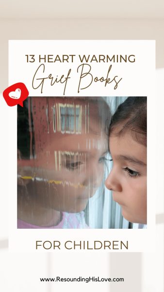
[[[119,180],[119,176],[113,169],[111,170],[110,174],[108,175],[105,181],[105,186],[111,191],[115,191],[115,192],[122,191],[122,186]]]

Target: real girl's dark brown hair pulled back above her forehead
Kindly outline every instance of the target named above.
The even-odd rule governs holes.
[[[115,128],[120,126],[118,132]],[[147,146],[147,97],[130,96],[120,104],[112,117],[110,135],[120,136],[125,131],[131,131],[132,138]]]

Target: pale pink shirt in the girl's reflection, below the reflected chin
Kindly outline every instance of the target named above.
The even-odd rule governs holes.
[[[66,213],[62,212],[62,221],[56,226],[42,227],[27,223],[23,220],[17,219],[17,228],[22,229],[83,229],[89,228],[85,223],[84,212],[79,213]]]

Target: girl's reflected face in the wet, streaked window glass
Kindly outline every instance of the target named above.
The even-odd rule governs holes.
[[[27,183],[28,200],[33,204],[80,212],[102,182],[108,140],[104,136],[88,134],[65,135],[55,142],[51,142],[30,167],[21,165],[24,161],[18,161],[21,177],[35,176],[34,181],[20,180]],[[55,155],[47,156],[47,149]]]

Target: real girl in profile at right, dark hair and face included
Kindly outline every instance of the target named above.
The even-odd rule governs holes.
[[[105,185],[125,219],[147,223],[147,98],[128,97],[110,125],[113,168]]]

